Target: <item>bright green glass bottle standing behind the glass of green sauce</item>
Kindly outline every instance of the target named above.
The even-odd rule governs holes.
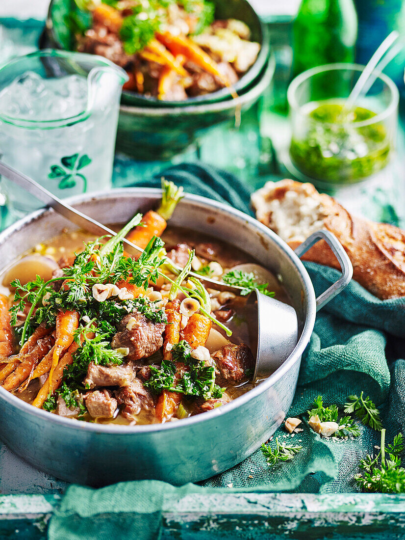
[[[353,62],[353,0],[302,0],[293,23],[293,76],[323,64]]]

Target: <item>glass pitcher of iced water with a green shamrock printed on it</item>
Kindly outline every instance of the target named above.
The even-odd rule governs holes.
[[[111,187],[125,71],[106,58],[43,50],[0,66],[0,154],[60,198]],[[2,178],[9,210],[41,206]]]

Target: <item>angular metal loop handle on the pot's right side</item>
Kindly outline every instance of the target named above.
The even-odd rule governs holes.
[[[305,242],[298,246],[294,251],[298,257],[302,257],[304,253],[308,251],[314,244],[319,242],[319,240],[325,240],[327,245],[332,249],[333,254],[338,259],[342,275],[335,281],[333,285],[326,289],[325,292],[320,294],[317,298],[317,311],[320,308],[324,307],[334,296],[340,293],[349,283],[353,277],[353,266],[348,258],[347,253],[345,252],[343,246],[340,244],[339,240],[332,234],[330,231],[317,231],[311,234]]]

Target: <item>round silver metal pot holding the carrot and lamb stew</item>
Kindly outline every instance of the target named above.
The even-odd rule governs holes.
[[[129,220],[155,207],[161,191],[147,188],[84,195],[71,204],[106,224]],[[36,409],[0,388],[0,438],[38,469],[68,482],[89,485],[155,478],[173,484],[197,482],[236,465],[269,438],[289,410],[301,354],[314,326],[317,299],[310,278],[283,240],[255,219],[230,206],[187,195],[171,225],[223,239],[279,275],[297,311],[299,341],[289,358],[258,387],[222,407],[178,422],[117,426],[79,422]],[[68,222],[40,210],[0,234],[2,266],[57,235]],[[73,228],[73,227],[72,227]],[[317,238],[312,240],[312,243]],[[330,235],[340,258],[345,252]],[[300,254],[305,250],[301,249]],[[322,305],[351,278],[342,278],[322,295]],[[269,329],[271,332],[271,328]]]

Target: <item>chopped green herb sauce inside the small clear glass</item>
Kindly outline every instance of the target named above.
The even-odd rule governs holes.
[[[342,113],[342,109],[336,102],[321,103],[308,114],[305,138],[292,139],[291,159],[307,176],[351,184],[387,165],[390,143],[383,123],[356,126],[375,117],[375,112],[355,107]]]

